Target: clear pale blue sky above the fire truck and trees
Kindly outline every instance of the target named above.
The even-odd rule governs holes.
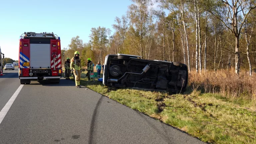
[[[130,0],[2,0],[0,46],[5,57],[18,60],[19,36],[24,32],[53,32],[62,48],[72,37],[89,41],[92,27],[112,28],[126,14]]]

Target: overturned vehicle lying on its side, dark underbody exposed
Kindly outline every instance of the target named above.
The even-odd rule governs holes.
[[[103,84],[116,88],[180,93],[188,83],[187,65],[178,62],[141,59],[134,55],[107,55]]]

